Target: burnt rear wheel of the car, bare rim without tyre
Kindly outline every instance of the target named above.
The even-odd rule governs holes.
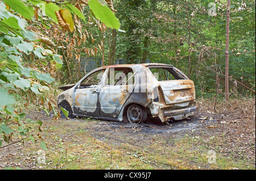
[[[147,119],[147,111],[144,107],[132,104],[127,109],[127,118],[130,123],[140,124]]]

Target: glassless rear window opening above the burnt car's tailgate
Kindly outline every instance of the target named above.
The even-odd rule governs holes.
[[[176,68],[148,68],[158,81],[171,81],[188,79],[188,77]]]

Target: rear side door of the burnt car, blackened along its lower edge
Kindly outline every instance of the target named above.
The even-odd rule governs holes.
[[[117,117],[134,89],[135,75],[131,68],[110,68],[99,95],[102,117]]]

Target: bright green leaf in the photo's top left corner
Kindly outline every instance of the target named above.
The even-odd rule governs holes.
[[[19,0],[3,0],[3,2],[5,2],[6,5],[10,6],[11,9],[13,9],[14,11],[19,12],[19,14],[24,16],[24,18],[26,19],[31,19],[31,17],[34,15],[30,11],[30,9],[28,9],[28,7]]]

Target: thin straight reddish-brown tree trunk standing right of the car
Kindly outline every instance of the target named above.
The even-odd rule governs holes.
[[[230,16],[230,0],[226,11],[226,66],[225,66],[225,99],[229,100],[229,16]]]

